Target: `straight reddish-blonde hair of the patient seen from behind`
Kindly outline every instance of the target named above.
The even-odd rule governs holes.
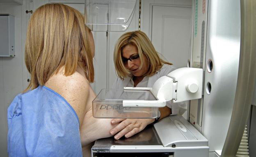
[[[64,75],[75,73],[78,62],[89,82],[94,80],[90,30],[83,15],[64,4],[45,4],[30,18],[25,45],[25,64],[31,81],[25,91],[44,85],[64,66]]]

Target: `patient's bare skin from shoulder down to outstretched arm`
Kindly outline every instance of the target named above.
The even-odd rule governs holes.
[[[96,139],[112,136],[110,130],[115,126],[111,119],[94,118],[92,101],[96,97],[89,81],[78,66],[75,73],[64,75],[64,69],[50,77],[45,86],[62,95],[69,102],[79,117],[82,147]]]

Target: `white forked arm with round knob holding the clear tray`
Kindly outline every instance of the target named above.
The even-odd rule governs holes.
[[[157,100],[123,100],[124,107],[164,107],[167,101],[183,102],[202,97],[203,69],[180,68],[160,77],[152,88],[124,87],[126,91],[151,91]]]

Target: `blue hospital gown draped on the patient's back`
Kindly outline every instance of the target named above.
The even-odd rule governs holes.
[[[7,112],[9,157],[82,157],[78,116],[55,91],[19,94]]]

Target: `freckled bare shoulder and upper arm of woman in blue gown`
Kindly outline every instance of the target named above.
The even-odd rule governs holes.
[[[69,102],[77,113],[81,125],[89,97],[88,80],[77,71],[70,76],[65,76],[63,71],[59,71],[50,77],[45,86],[59,93]]]

